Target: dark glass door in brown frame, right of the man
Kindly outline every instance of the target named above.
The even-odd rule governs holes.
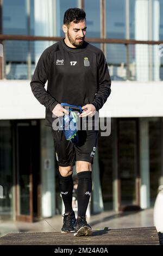
[[[118,119],[119,210],[139,208],[139,159],[137,119]]]

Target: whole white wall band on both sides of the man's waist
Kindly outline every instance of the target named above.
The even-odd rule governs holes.
[[[0,80],[0,119],[42,119],[45,107],[30,89],[30,81]],[[163,82],[113,81],[108,101],[100,110],[106,117],[163,116]]]

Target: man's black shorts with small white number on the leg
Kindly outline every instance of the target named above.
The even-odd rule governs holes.
[[[97,130],[79,130],[77,144],[67,141],[64,132],[61,130],[54,131],[52,129],[52,135],[59,166],[74,166],[76,161],[93,163],[98,138]]]

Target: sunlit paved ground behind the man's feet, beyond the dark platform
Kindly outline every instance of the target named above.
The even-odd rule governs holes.
[[[153,208],[141,211],[122,212],[105,211],[87,218],[92,230],[152,227]],[[10,232],[60,232],[62,217],[56,215],[35,223],[0,220],[0,236]]]

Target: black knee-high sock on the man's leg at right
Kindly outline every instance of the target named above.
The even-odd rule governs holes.
[[[85,216],[86,209],[89,204],[90,196],[92,192],[92,178],[91,171],[78,173],[78,216]]]

